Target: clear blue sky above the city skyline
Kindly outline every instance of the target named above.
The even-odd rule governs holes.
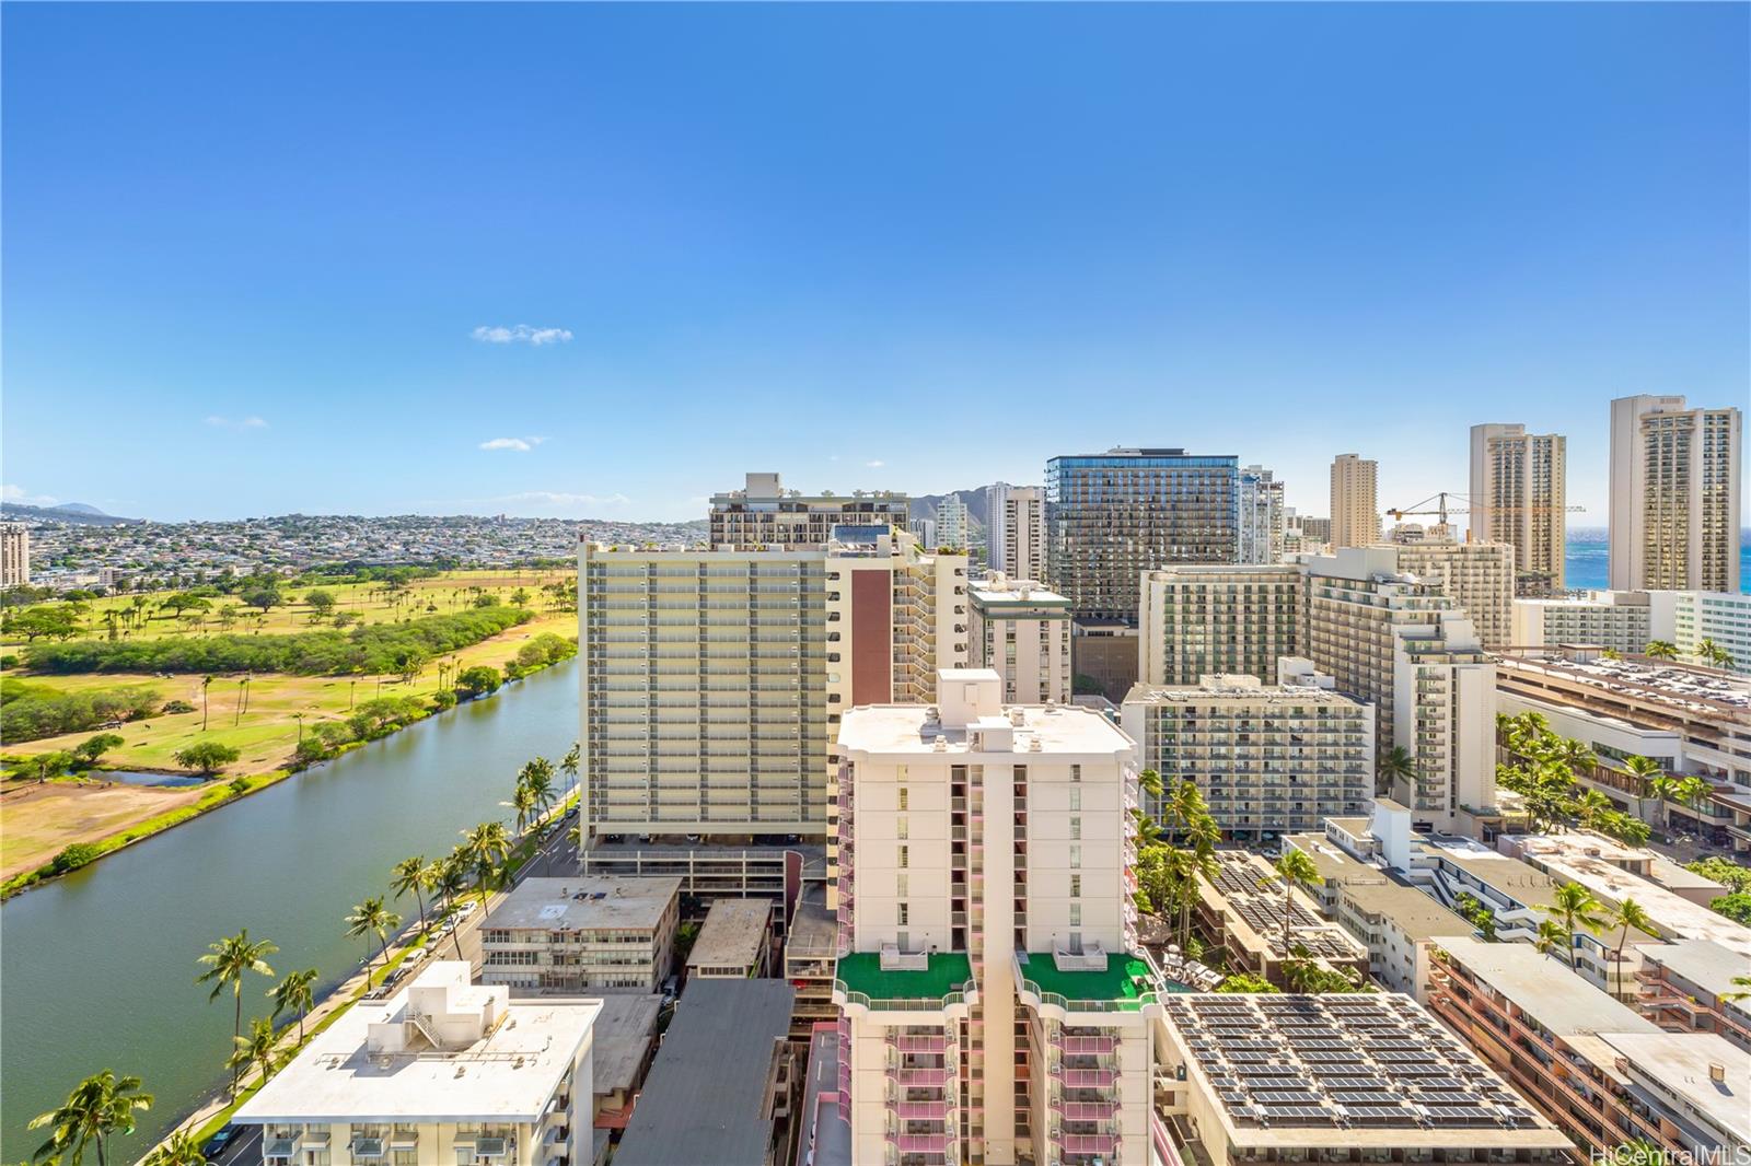
[[[1609,397],[1747,404],[1747,12],[9,4],[5,492],[688,518],[1142,443],[1326,513],[1523,420],[1602,525]]]

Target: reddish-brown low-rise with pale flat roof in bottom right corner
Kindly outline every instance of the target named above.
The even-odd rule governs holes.
[[[1436,959],[1434,1012],[1583,1148],[1648,1140],[1700,1155],[1751,1145],[1742,1049],[1662,1033],[1523,944],[1453,938]]]

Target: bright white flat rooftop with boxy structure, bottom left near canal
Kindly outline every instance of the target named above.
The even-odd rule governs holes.
[[[510,1000],[504,987],[469,987],[469,966],[438,961],[387,1001],[361,1001],[238,1110],[243,1124],[510,1122],[541,1117],[590,1035],[599,1001]],[[483,1010],[485,1033],[455,1049],[411,1038],[401,1052],[368,1047],[382,1026],[408,1028],[408,998],[443,991],[450,1007]],[[452,1031],[445,1024],[443,1031]]]

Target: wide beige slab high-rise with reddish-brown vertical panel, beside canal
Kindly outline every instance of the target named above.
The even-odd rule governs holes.
[[[578,557],[583,826],[823,835],[853,704],[928,702],[967,660],[967,558],[886,523],[807,550]]]

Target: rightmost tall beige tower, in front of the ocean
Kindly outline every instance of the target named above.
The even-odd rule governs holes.
[[[1742,443],[1735,408],[1611,403],[1613,590],[1739,590]]]

